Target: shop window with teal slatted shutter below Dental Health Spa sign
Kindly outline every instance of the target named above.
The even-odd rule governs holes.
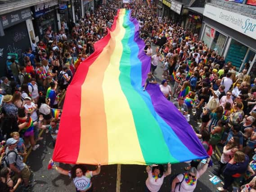
[[[225,61],[226,62],[231,61],[232,65],[237,67],[237,69],[239,69],[241,64],[243,63],[243,59],[245,57],[247,50],[248,50],[247,46],[232,39]]]

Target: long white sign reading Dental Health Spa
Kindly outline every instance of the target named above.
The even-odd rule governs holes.
[[[206,4],[203,15],[256,40],[256,19]]]

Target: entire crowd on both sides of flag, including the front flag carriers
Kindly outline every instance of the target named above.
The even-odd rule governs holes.
[[[31,172],[23,162],[27,152],[40,147],[37,143],[43,139],[44,130],[54,145],[59,119],[52,109],[61,110],[76,69],[94,52],[94,43],[108,33],[120,7],[119,1],[99,6],[74,24],[70,33],[65,23],[60,31],[49,26],[43,40],[38,44],[32,40],[22,63],[7,58],[7,76],[1,77],[0,84],[0,187],[6,192],[15,191],[20,183],[29,190]],[[172,175],[171,192],[193,192],[197,179],[211,164],[211,156],[222,147],[213,173],[224,178],[224,185],[217,190],[225,192],[238,181],[241,191],[256,191],[256,78],[247,74],[249,64],[238,73],[231,62],[191,31],[170,19],[158,18],[154,5],[137,1],[126,8],[132,9],[132,16],[139,22],[145,54],[152,61],[143,90],[149,83],[157,84],[155,70],[161,67],[163,95],[188,121],[200,125],[195,132],[209,155],[204,165],[199,166],[201,160],[193,160],[184,168],[186,172]],[[94,171],[86,170],[84,165],[68,171],[53,161],[49,169],[68,175],[76,191],[81,192],[93,191],[90,178],[100,173],[100,165]],[[146,171],[145,191],[158,192],[164,178],[171,174],[171,164],[147,166]]]

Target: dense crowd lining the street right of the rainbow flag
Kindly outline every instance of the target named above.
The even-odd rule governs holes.
[[[152,61],[144,90],[148,83],[157,83],[154,74],[161,67],[163,95],[187,121],[198,123],[200,129],[194,129],[208,155],[216,154],[216,146],[223,148],[213,171],[224,178],[224,186],[217,190],[225,192],[237,181],[249,183],[241,190],[254,191],[256,78],[255,74],[247,73],[250,64],[246,63],[238,72],[230,61],[225,61],[191,31],[170,19],[157,18],[153,7],[139,7],[133,13],[140,23],[144,51]],[[155,54],[152,45],[157,47]],[[197,168],[199,162],[191,161],[185,170]],[[178,176],[174,181],[181,179]]]

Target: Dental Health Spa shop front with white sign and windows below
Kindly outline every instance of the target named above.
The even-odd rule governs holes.
[[[248,74],[256,74],[256,19],[206,4],[201,39],[238,71],[250,64]]]

